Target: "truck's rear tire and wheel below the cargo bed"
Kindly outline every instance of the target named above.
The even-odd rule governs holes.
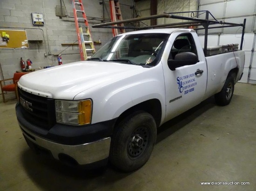
[[[222,90],[215,95],[215,101],[218,105],[221,105],[221,106],[229,105],[233,97],[234,86],[235,86],[234,77],[230,75],[227,77]]]

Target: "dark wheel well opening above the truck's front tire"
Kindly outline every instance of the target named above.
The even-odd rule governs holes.
[[[127,117],[128,115],[134,113],[135,111],[145,111],[152,115],[155,119],[156,127],[160,125],[162,118],[162,107],[161,103],[158,99],[151,99],[145,102],[141,102],[131,108],[128,108],[124,111],[117,119],[115,124],[118,124],[122,119]]]

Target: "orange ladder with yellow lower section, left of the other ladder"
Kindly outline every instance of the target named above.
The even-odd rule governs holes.
[[[95,47],[94,47],[94,41],[92,39],[92,35],[89,29],[89,24],[86,18],[86,14],[84,11],[84,7],[82,4],[82,0],[72,0],[72,6],[74,11],[74,22],[75,22],[75,28],[77,32],[77,38],[78,38],[78,45],[79,45],[79,52],[81,56],[81,60],[87,60],[89,57],[87,56],[87,51],[91,51],[93,54],[95,53]],[[76,9],[79,8],[79,9]],[[78,16],[77,14],[82,14],[82,16]],[[83,33],[82,26],[78,24],[78,21],[82,20],[85,24],[85,33]],[[87,40],[84,40],[84,37],[87,38]],[[86,45],[89,45],[90,47],[87,48]]]

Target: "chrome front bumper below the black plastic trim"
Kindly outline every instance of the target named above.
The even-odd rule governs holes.
[[[19,124],[20,125],[20,124]],[[20,125],[24,136],[35,145],[50,151],[54,159],[61,160],[60,154],[72,157],[79,165],[87,165],[108,158],[111,138],[107,137],[82,145],[62,145],[50,140],[42,139],[39,136],[27,131]]]

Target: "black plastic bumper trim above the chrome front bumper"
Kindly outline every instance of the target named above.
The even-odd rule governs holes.
[[[22,113],[20,104],[16,105],[16,116],[21,126],[26,130],[44,139],[63,145],[80,145],[111,137],[116,121],[116,119],[113,119],[82,127],[55,124],[48,130],[27,121]]]

